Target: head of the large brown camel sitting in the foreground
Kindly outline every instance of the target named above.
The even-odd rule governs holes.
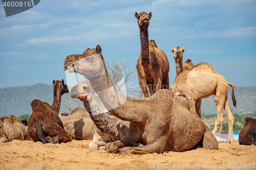
[[[87,79],[105,74],[104,59],[101,47],[88,48],[81,55],[69,55],[64,61],[63,69],[70,73],[77,72]]]

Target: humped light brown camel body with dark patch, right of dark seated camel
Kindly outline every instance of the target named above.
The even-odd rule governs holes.
[[[89,113],[82,108],[75,108],[72,110],[70,115],[61,116],[61,122],[66,132],[76,140],[89,140],[92,139],[93,142],[103,140],[105,134],[101,133],[97,127],[94,125]],[[89,145],[90,149],[93,148]]]

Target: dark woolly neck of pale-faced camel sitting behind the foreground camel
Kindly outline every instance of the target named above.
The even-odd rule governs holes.
[[[93,115],[92,109],[102,110],[98,101],[94,98],[94,101],[91,101],[89,104],[88,100],[82,100],[84,107],[89,113],[91,119],[93,120],[95,126],[102,132],[110,136],[115,136],[117,131],[115,127],[115,118],[114,116],[109,115],[108,113],[101,113]]]

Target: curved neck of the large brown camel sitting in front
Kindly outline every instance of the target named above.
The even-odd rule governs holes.
[[[116,89],[106,69],[105,72],[105,75],[90,79],[90,83],[99,96],[102,104],[111,114],[122,120],[130,121],[134,124],[143,123],[145,116],[136,111],[137,107],[138,109],[141,109],[141,103],[138,102],[134,105],[135,102],[133,102],[133,100],[139,99],[129,98],[122,94]]]

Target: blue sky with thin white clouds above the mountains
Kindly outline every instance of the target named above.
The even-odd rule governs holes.
[[[135,12],[152,12],[149,38],[183,62],[211,64],[236,86],[256,86],[256,1],[48,1],[6,17],[0,7],[0,88],[66,79],[63,61],[97,44],[105,61],[129,60],[136,70],[140,37]],[[130,82],[138,84],[137,70]]]

